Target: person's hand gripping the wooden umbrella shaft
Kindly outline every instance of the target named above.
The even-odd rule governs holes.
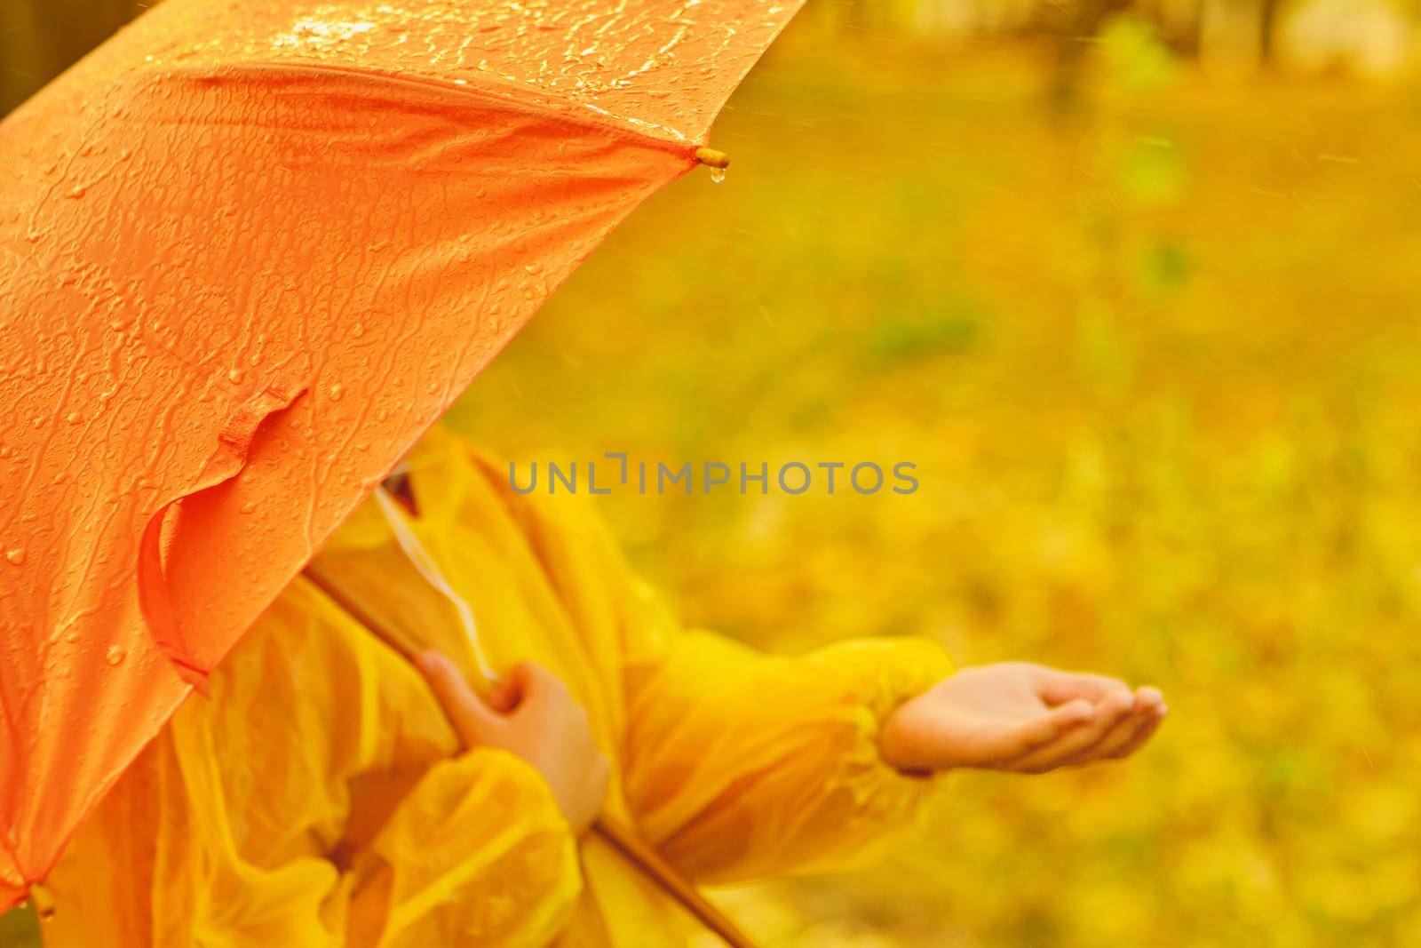
[[[425,652],[416,664],[463,746],[502,748],[523,758],[547,780],[573,831],[591,826],[603,809],[611,769],[593,743],[587,712],[557,675],[524,662],[485,704],[439,652]]]

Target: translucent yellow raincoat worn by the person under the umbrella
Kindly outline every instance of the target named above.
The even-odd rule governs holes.
[[[759,654],[678,628],[585,502],[520,496],[435,429],[409,527],[489,662],[567,682],[612,763],[611,813],[702,883],[843,867],[931,782],[880,723],[948,674],[918,640]],[[323,551],[384,621],[477,664],[446,598],[368,502]],[[50,948],[684,945],[689,922],[598,837],[574,840],[520,759],[463,753],[423,681],[293,583],[98,806],[38,894]]]

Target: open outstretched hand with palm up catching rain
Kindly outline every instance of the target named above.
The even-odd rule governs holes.
[[[1044,773],[1131,755],[1167,711],[1154,688],[1000,662],[963,668],[901,705],[880,746],[902,770]]]

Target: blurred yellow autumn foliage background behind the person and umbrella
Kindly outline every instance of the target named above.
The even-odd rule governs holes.
[[[14,3],[7,105],[134,7]],[[888,866],[723,894],[770,945],[1421,944],[1418,14],[811,0],[725,183],[648,202],[455,409],[513,458],[917,462],[598,503],[766,648],[1165,691],[1124,766],[953,775]]]

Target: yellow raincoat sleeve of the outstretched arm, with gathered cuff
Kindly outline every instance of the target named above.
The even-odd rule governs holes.
[[[826,871],[871,861],[912,826],[935,780],[887,765],[878,732],[951,672],[942,647],[884,638],[782,657],[684,630],[585,497],[516,496],[507,465],[472,453],[617,681],[621,790],[664,856],[706,883]]]

